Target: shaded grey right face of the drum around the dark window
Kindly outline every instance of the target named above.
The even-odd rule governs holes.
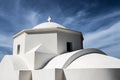
[[[57,44],[58,44],[58,53],[65,53],[67,52],[66,43],[72,42],[72,50],[79,50],[82,49],[82,36],[81,34],[71,34],[65,32],[58,32],[57,33]]]

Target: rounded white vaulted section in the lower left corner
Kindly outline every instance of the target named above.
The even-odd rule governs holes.
[[[19,80],[19,71],[26,69],[19,56],[6,55],[0,63],[0,80]]]

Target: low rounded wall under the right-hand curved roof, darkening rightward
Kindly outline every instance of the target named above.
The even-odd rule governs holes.
[[[65,69],[66,80],[120,80],[118,68]]]

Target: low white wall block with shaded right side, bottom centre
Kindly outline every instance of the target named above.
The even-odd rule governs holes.
[[[33,80],[63,80],[61,69],[40,69],[33,70]]]

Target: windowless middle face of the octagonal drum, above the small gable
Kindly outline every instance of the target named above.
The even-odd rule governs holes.
[[[39,44],[44,45],[50,53],[57,54],[57,33],[27,34],[25,52],[28,52]]]

